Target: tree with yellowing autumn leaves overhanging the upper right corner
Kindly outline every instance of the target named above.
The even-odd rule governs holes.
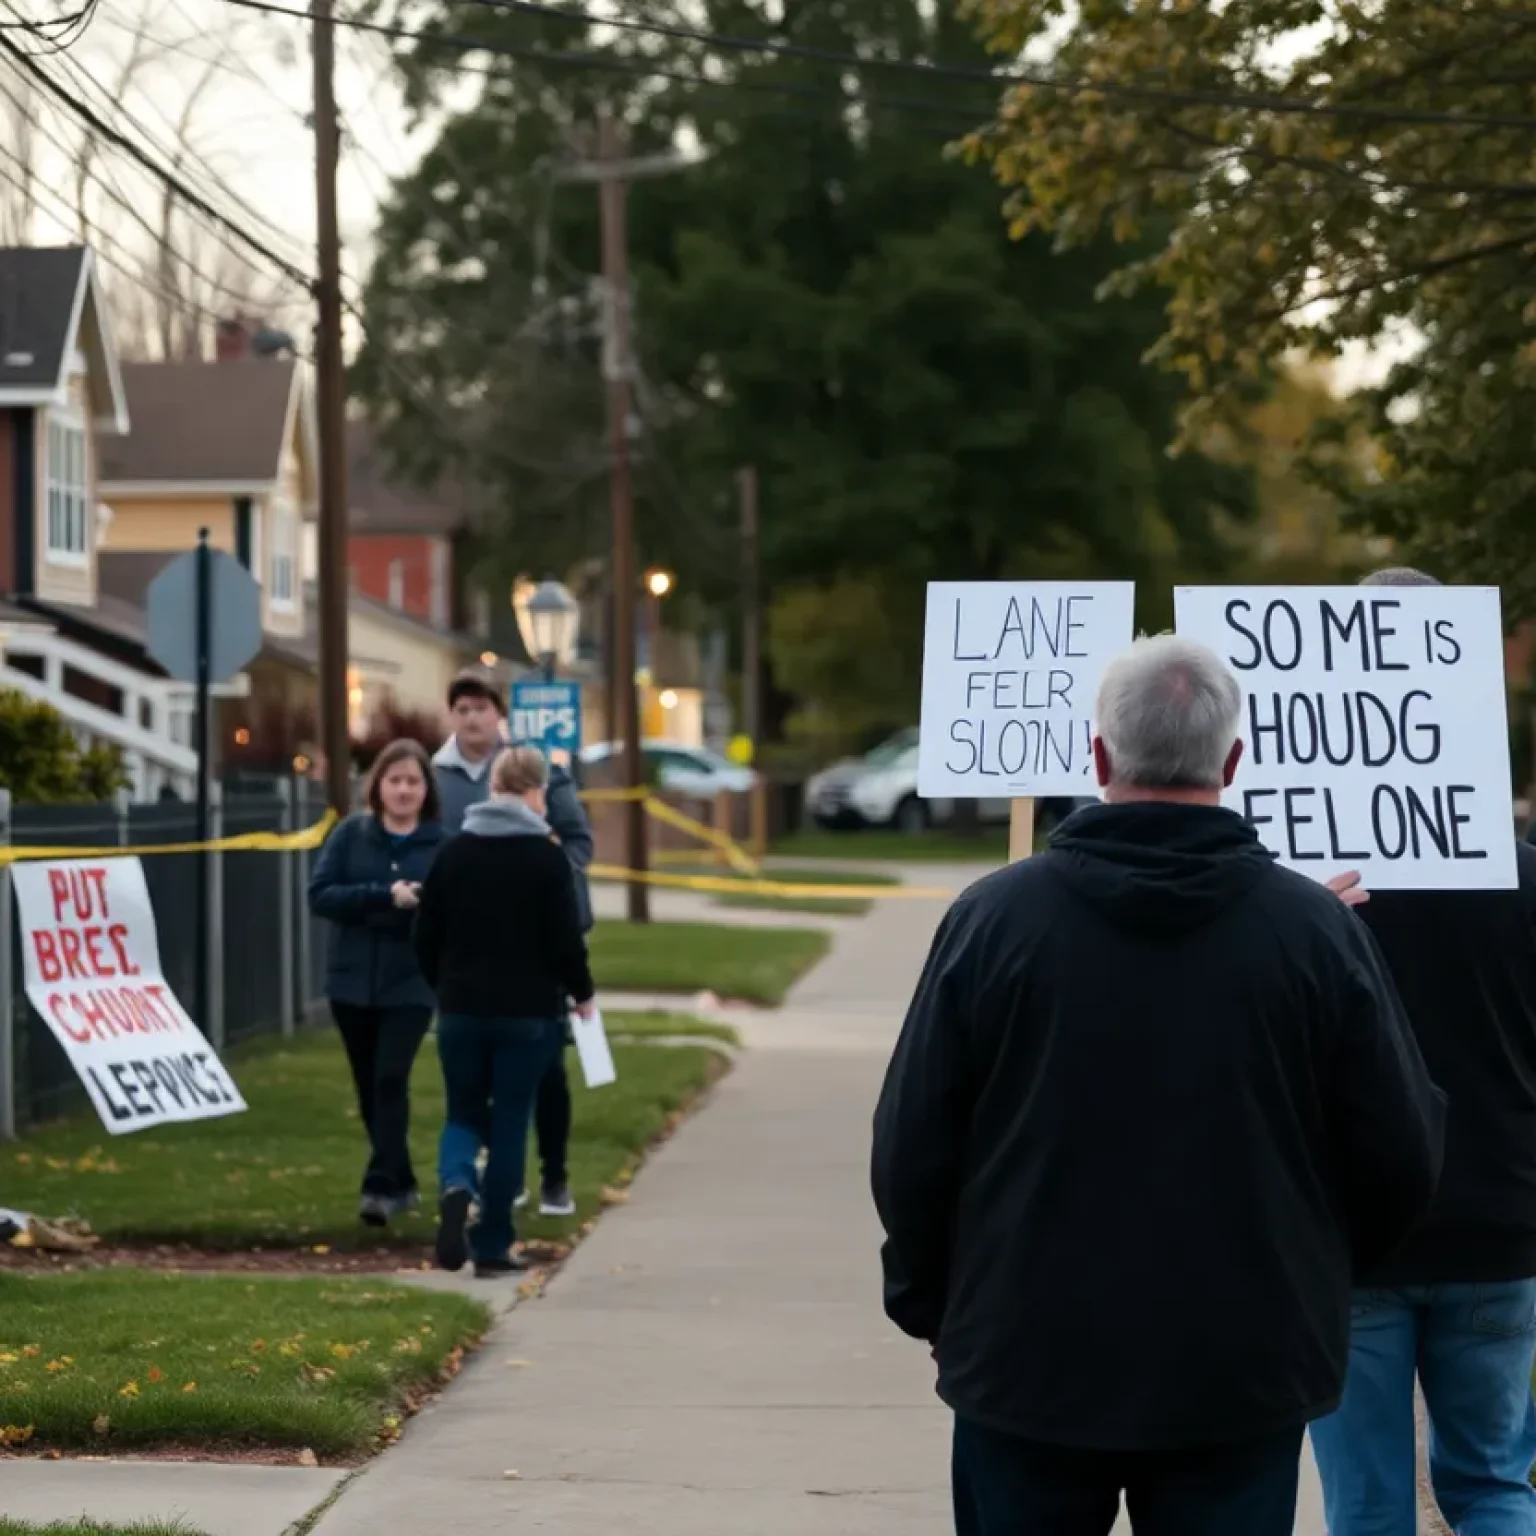
[[[1536,611],[1531,269],[1536,15],[1505,0],[969,0],[1014,61],[1051,40],[971,141],[1012,232],[1126,243],[1115,290],[1166,292],[1154,356],[1189,384],[1187,441],[1295,353],[1398,355],[1329,422],[1370,473],[1312,470],[1442,574]],[[1150,249],[1147,235],[1155,235]]]

